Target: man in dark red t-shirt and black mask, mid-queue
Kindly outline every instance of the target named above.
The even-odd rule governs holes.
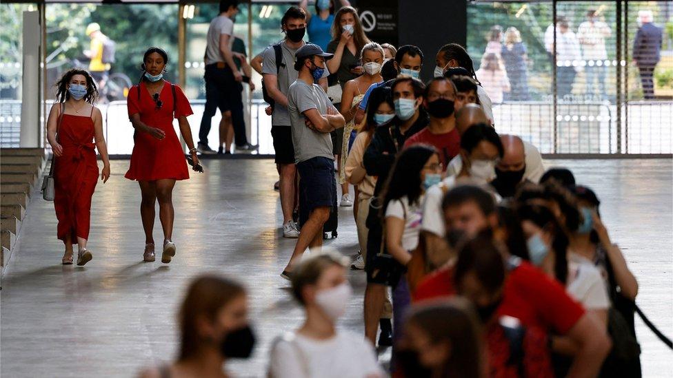
[[[404,143],[404,147],[424,144],[436,148],[439,151],[439,162],[442,169],[454,156],[459,154],[461,149],[461,136],[456,130],[454,115],[455,98],[456,88],[450,79],[442,76],[428,81],[425,86],[423,107],[428,110],[430,123]],[[439,180],[432,185],[437,183]]]

